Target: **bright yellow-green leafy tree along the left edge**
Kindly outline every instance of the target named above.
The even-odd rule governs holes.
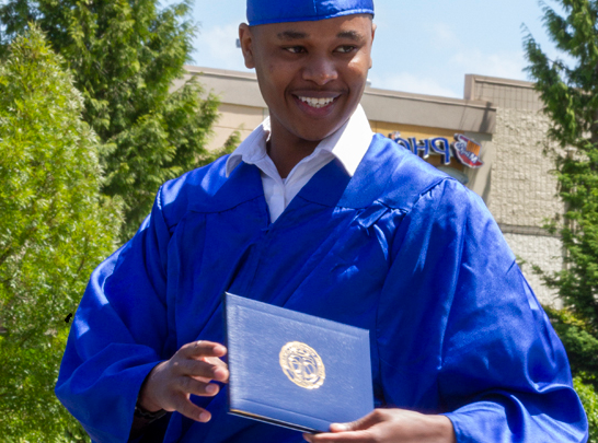
[[[100,193],[101,147],[83,97],[33,27],[0,66],[0,435],[87,440],[54,395],[93,268],[114,250],[120,205]]]

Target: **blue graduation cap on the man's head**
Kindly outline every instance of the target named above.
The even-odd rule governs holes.
[[[250,26],[309,22],[350,14],[373,15],[373,0],[248,0]]]

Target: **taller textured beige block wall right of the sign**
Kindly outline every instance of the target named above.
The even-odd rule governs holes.
[[[544,304],[559,306],[554,291],[532,271],[532,266],[544,272],[563,267],[560,238],[542,229],[545,219],[563,213],[552,174],[554,161],[543,152],[549,120],[530,83],[503,82],[482,78],[478,84],[469,84],[475,98],[497,107],[495,132],[483,144],[493,155],[486,205],[522,263],[536,295]]]

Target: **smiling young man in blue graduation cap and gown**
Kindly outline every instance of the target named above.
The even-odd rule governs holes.
[[[484,205],[370,130],[372,16],[248,1],[269,119],[166,183],[77,312],[56,393],[95,442],[301,441],[227,413],[223,291],[369,329],[378,409],[308,441],[585,441],[564,350]]]

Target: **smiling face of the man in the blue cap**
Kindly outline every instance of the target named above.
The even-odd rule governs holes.
[[[240,26],[273,139],[317,142],[347,121],[366,86],[373,33],[369,15]]]

